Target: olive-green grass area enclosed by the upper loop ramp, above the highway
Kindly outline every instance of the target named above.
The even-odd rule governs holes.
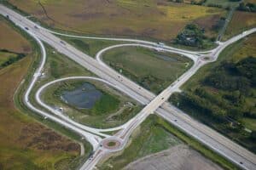
[[[192,65],[190,59],[177,54],[134,47],[114,48],[102,57],[113,69],[155,94],[159,94]]]

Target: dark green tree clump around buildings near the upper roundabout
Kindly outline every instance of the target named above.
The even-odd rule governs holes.
[[[195,24],[187,25],[181,33],[177,35],[176,43],[197,48],[208,48],[213,45],[215,38],[211,41],[204,35],[204,30]]]

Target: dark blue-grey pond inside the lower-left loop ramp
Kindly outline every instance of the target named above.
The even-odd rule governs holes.
[[[61,99],[68,105],[73,105],[79,109],[91,109],[101,97],[102,92],[89,82],[85,82],[72,91],[64,91],[61,95]]]

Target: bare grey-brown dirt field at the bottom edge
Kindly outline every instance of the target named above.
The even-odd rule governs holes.
[[[169,150],[145,156],[131,162],[125,170],[220,170],[221,167],[201,156],[187,145],[179,144]]]

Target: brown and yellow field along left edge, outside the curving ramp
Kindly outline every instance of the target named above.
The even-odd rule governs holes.
[[[1,39],[0,47],[24,53],[24,44],[29,54],[0,70],[0,168],[1,169],[55,169],[60,161],[73,161],[79,156],[79,144],[62,137],[59,133],[36,122],[18,111],[14,94],[32,63],[30,42],[21,37],[12,27],[1,21],[0,30],[9,27],[7,38]],[[17,40],[12,43],[8,37]],[[15,45],[13,45],[15,44]]]

